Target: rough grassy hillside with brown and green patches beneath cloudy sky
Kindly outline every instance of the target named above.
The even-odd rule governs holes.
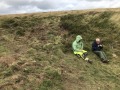
[[[120,90],[120,10],[0,16],[0,90]],[[82,35],[93,64],[73,55]],[[110,60],[91,51],[102,38]]]

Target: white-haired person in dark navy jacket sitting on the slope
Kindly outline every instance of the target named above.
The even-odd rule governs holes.
[[[99,38],[96,38],[96,40],[92,43],[92,51],[100,57],[102,62],[104,63],[109,62],[105,52],[103,51],[103,45]]]

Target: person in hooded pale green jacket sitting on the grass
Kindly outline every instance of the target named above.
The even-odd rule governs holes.
[[[76,40],[72,43],[72,48],[75,55],[82,57],[85,61],[92,63],[89,58],[87,58],[87,51],[83,50],[83,39],[80,35],[76,36]]]

